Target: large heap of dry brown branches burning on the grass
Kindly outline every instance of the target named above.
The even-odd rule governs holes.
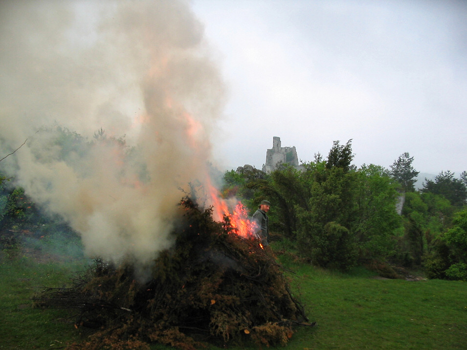
[[[269,247],[242,237],[228,217],[212,219],[189,199],[176,244],[162,252],[147,282],[131,263],[96,260],[67,288],[48,288],[38,306],[73,311],[76,328],[93,329],[68,349],[192,350],[209,342],[285,345],[294,325],[310,325]]]

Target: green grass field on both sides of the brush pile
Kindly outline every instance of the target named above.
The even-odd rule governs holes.
[[[467,349],[465,282],[384,280],[364,269],[342,274],[284,263],[317,323],[297,328],[286,349]],[[85,265],[1,256],[0,349],[63,349],[83,337],[64,311],[33,308],[30,298],[42,286],[63,286]]]

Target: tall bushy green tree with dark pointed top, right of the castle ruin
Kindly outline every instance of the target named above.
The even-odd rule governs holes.
[[[307,207],[298,210],[297,245],[312,263],[347,270],[357,261],[352,230],[356,217],[356,173],[351,172],[351,140],[345,146],[334,141],[325,167],[305,166],[309,191]]]

